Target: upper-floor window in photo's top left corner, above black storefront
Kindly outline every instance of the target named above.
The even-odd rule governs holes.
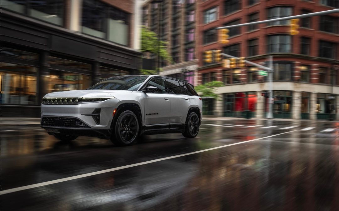
[[[1,7],[26,14],[33,18],[62,26],[64,20],[64,1],[2,0]],[[28,7],[26,7],[28,5]],[[27,8],[27,9],[26,9]]]

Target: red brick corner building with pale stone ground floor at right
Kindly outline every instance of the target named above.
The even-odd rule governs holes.
[[[209,114],[266,117],[267,77],[258,68],[223,68],[204,63],[203,52],[222,50],[266,65],[273,56],[274,118],[325,120],[336,113],[339,119],[338,17],[339,14],[301,19],[299,34],[289,34],[290,21],[230,28],[230,43],[219,44],[216,27],[275,19],[338,8],[338,0],[208,0],[199,5],[198,84],[223,81],[218,88],[221,101],[205,100]]]

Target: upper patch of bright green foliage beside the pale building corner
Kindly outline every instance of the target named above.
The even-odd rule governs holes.
[[[158,35],[143,26],[141,28],[141,52],[150,52],[156,55],[159,54],[160,44],[160,57],[170,63],[173,63],[172,57],[168,54],[166,45],[167,42],[159,41]]]

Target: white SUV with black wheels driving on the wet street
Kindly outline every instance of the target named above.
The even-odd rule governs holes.
[[[192,84],[155,75],[107,78],[85,90],[49,93],[41,104],[48,134],[60,140],[96,136],[119,146],[142,134],[194,138],[201,119],[202,99]]]

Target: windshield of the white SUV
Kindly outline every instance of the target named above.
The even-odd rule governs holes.
[[[112,89],[136,91],[148,76],[117,76],[107,78],[88,89]]]

